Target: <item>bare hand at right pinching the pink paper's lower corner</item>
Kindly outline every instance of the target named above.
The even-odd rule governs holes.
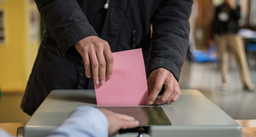
[[[164,68],[154,70],[150,74],[147,82],[149,90],[149,105],[152,105],[156,100],[163,84],[165,85],[165,92],[162,94],[161,98],[157,99],[157,105],[175,102],[181,95],[177,80],[169,70]]]

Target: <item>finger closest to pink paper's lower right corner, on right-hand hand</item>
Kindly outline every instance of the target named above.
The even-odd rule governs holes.
[[[164,83],[164,78],[160,78],[159,76],[156,78],[156,82],[154,84],[154,88],[153,91],[149,97],[149,105],[152,105],[153,102],[157,99],[157,96],[159,94],[159,92],[162,89]]]

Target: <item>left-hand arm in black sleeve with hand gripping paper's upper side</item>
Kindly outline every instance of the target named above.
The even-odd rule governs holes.
[[[106,41],[100,39],[89,24],[76,0],[35,0],[47,28],[57,41],[58,55],[69,59],[83,59],[87,78],[91,69],[95,84],[111,78],[113,57]],[[82,57],[82,58],[81,58]]]

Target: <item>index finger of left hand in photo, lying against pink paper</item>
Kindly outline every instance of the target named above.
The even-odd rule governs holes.
[[[110,79],[112,77],[112,74],[113,74],[113,68],[114,68],[114,58],[113,58],[113,55],[112,55],[112,52],[110,50],[110,47],[107,43],[107,48],[104,49],[104,56],[105,56],[105,59],[106,59],[106,63],[107,63],[107,78]]]

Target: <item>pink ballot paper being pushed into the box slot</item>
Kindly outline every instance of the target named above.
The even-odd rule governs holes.
[[[112,53],[114,70],[104,85],[94,85],[102,106],[148,105],[149,94],[141,49]]]

